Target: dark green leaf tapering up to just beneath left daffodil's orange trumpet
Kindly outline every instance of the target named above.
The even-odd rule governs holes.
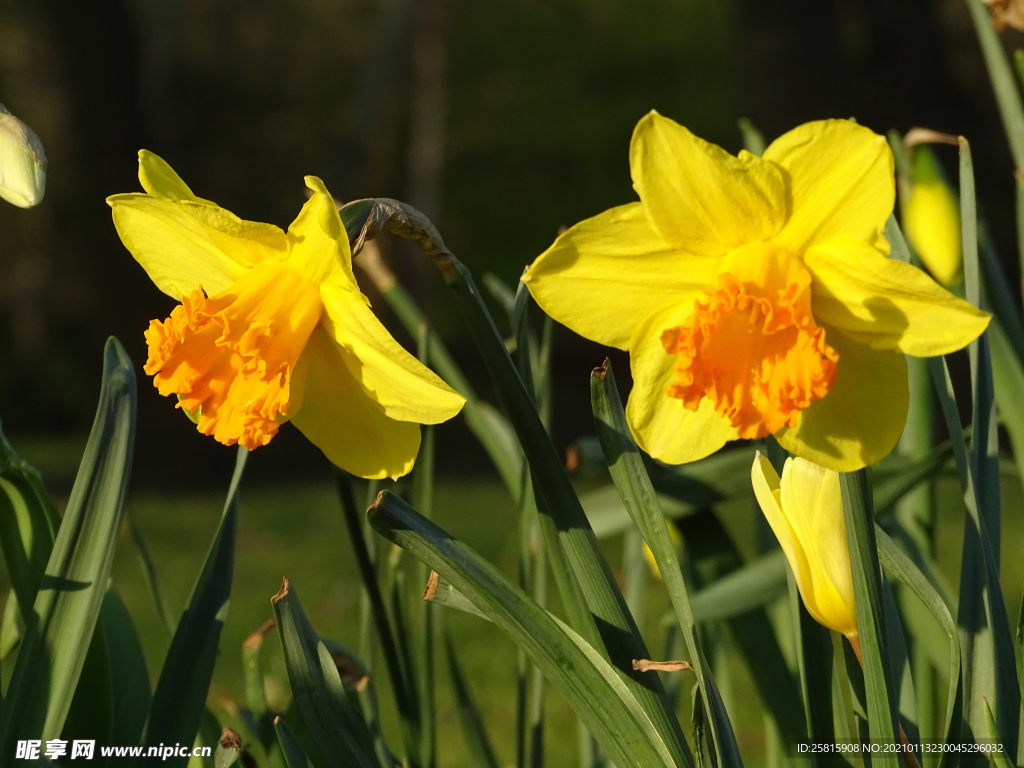
[[[144,739],[147,746],[191,743],[200,729],[231,596],[239,487],[248,456],[244,447],[238,449],[220,523],[171,639],[150,707]],[[168,766],[187,763],[187,758],[167,761]]]

